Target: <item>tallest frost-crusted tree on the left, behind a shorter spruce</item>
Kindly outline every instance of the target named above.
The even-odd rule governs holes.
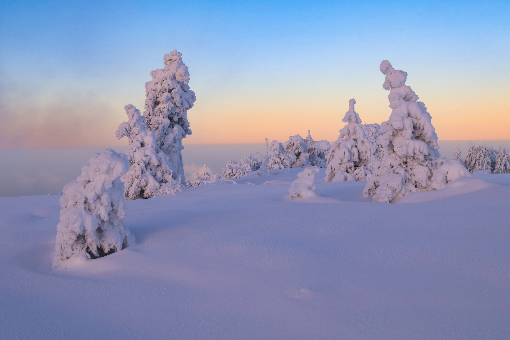
[[[195,102],[190,90],[188,67],[176,49],[163,57],[165,67],[150,71],[152,80],[145,83],[145,116],[156,134],[157,146],[169,157],[173,179],[185,185],[181,151],[182,139],[191,135],[188,110]]]

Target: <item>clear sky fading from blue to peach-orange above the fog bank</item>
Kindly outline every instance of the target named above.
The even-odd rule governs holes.
[[[510,139],[510,3],[2,2],[0,148],[119,145],[172,49],[197,101],[185,144],[334,141],[348,100],[388,120],[407,71],[441,140]],[[304,137],[303,136],[303,137]]]

